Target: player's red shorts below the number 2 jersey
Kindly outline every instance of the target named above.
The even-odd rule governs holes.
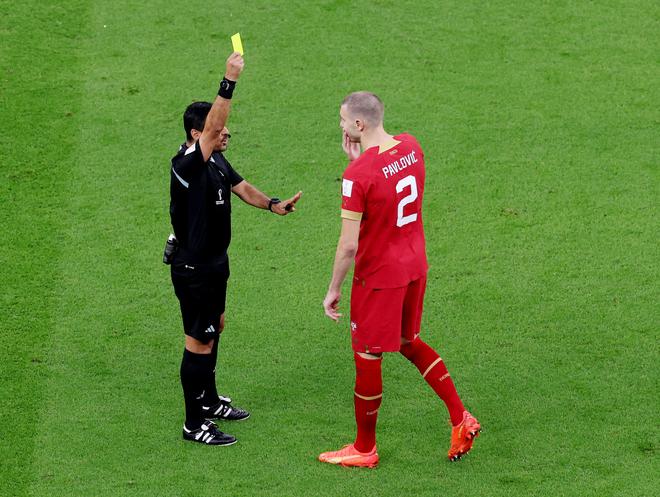
[[[401,337],[419,335],[426,276],[400,288],[365,288],[353,280],[351,339],[355,352],[398,352]]]

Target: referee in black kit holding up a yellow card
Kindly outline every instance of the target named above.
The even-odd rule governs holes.
[[[168,242],[174,248],[168,262],[185,333],[181,361],[186,412],[183,438],[208,445],[236,443],[236,438],[220,431],[213,419],[236,421],[250,416],[233,406],[231,399],[218,395],[215,384],[229,278],[231,193],[281,216],[295,211],[302,194],[285,201],[270,198],[245,181],[222,154],[230,137],[225,124],[231,97],[243,65],[243,57],[232,53],[215,101],[194,102],[186,108],[186,142],[172,159],[170,178],[175,239]]]

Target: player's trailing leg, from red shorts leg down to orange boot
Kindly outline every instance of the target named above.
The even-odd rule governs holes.
[[[417,367],[422,378],[447,406],[453,427],[449,457],[456,460],[470,450],[481,427],[465,410],[442,358],[419,338],[425,289],[426,278],[422,278],[411,283],[406,292],[400,352]]]

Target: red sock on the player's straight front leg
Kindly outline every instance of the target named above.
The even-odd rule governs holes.
[[[382,358],[365,359],[355,357],[355,421],[357,437],[355,448],[359,452],[371,452],[376,445],[376,421],[378,408],[383,398]]]

